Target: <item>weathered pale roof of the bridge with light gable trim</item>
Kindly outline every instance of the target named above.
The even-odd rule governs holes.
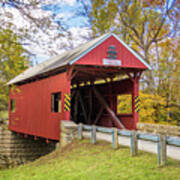
[[[126,48],[128,48],[128,50],[130,50],[143,64],[145,64],[149,69],[151,69],[150,66],[140,56],[138,56],[131,48],[129,48],[122,40],[120,40],[119,37],[117,37],[113,33],[107,33],[75,49],[66,51],[61,55],[50,58],[40,64],[37,64],[36,66],[28,68],[23,73],[19,74],[18,76],[10,80],[7,83],[7,85],[15,84],[24,81],[26,79],[30,79],[32,77],[35,77],[37,75],[43,74],[45,72],[51,71],[56,68],[60,68],[66,65],[71,65],[112,35],[116,39],[118,39],[124,46],[126,46]]]

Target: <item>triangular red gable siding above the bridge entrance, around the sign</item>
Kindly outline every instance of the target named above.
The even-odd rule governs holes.
[[[117,51],[117,60],[121,60],[121,67],[124,68],[142,68],[147,67],[137,59],[124,45],[122,45],[116,38],[111,36],[85,56],[80,58],[75,64],[84,65],[103,65],[103,59],[107,58],[107,51],[110,45],[114,45]]]

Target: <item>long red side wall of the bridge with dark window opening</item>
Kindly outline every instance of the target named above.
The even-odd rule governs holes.
[[[64,93],[70,88],[66,73],[18,86],[10,93],[16,110],[9,112],[9,129],[20,133],[59,140],[60,120],[66,119]],[[61,92],[62,113],[51,112],[51,94]]]

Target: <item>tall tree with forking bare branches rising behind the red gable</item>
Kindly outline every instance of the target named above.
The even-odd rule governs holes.
[[[84,14],[89,17],[93,36],[113,31],[129,44],[152,68],[151,48],[167,37],[172,37],[179,27],[179,4],[174,1],[152,0],[99,0],[81,1]],[[146,72],[146,86],[155,92],[154,71]]]

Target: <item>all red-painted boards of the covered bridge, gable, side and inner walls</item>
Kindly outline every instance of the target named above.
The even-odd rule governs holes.
[[[103,66],[103,59],[107,58],[107,51],[110,45],[116,47],[117,59],[121,60],[123,72],[145,70],[147,67],[137,59],[124,45],[113,36],[106,39],[103,43],[91,50],[89,53],[76,61],[75,65]],[[106,65],[107,66],[107,65]],[[16,91],[10,92],[10,99],[15,99],[16,110],[11,112],[9,109],[9,129],[18,133],[59,140],[60,121],[70,120],[70,112],[64,111],[64,94],[70,93],[72,66],[67,71],[58,75],[50,76],[41,80],[17,86]],[[119,68],[119,67],[118,67]],[[104,70],[106,71],[106,69]],[[107,69],[107,72],[110,70]],[[118,69],[118,71],[120,71]],[[93,74],[92,75],[96,75]],[[111,70],[113,72],[113,70]],[[97,72],[96,72],[97,73]],[[135,73],[135,71],[133,71]],[[88,81],[88,79],[87,79]],[[132,94],[132,113],[117,115],[124,126],[128,129],[135,129],[138,121],[138,113],[135,112],[134,98],[138,95],[139,79],[133,76],[128,80],[119,82],[96,85],[100,93],[109,100],[111,109],[117,111],[117,95]],[[88,96],[88,86],[83,87]],[[61,92],[62,112],[51,112],[51,94]],[[96,108],[97,99],[92,99],[93,108]],[[99,125],[112,127],[112,120],[106,114],[100,118]]]

